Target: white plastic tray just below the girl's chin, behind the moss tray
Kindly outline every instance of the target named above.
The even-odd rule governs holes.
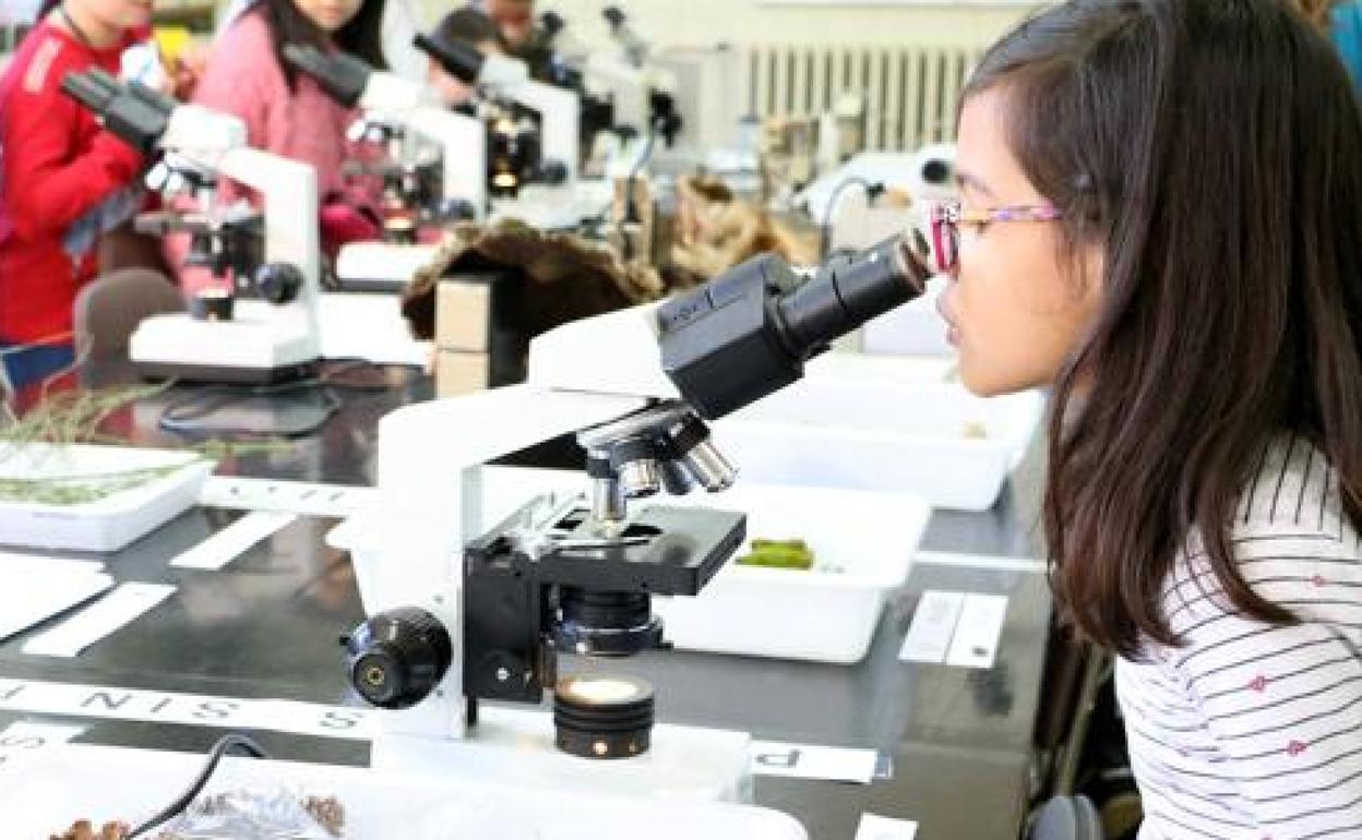
[[[981,399],[956,384],[809,377],[712,425],[742,481],[915,493],[985,511],[1043,414],[1039,392]]]

